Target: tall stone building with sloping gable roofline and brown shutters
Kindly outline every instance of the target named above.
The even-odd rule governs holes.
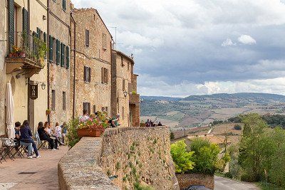
[[[74,116],[96,111],[110,116],[111,95],[111,43],[108,28],[95,9],[73,9],[75,27],[74,60],[71,60],[71,78],[74,89]],[[73,31],[71,31],[73,33]],[[73,42],[72,42],[73,43]]]

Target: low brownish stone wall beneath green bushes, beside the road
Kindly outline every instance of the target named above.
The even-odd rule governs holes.
[[[180,189],[190,185],[204,185],[209,189],[214,189],[214,175],[207,174],[176,174]]]

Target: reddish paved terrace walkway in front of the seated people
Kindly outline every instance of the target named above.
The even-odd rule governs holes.
[[[6,158],[0,164],[0,189],[58,189],[58,161],[67,151],[68,147],[61,146],[54,151],[40,150],[39,159]]]

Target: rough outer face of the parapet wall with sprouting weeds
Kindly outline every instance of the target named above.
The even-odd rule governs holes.
[[[106,130],[100,167],[120,189],[135,181],[155,189],[179,189],[170,155],[168,127],[121,127]]]

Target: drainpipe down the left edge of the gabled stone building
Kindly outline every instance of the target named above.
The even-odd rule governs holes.
[[[73,31],[73,106],[72,106],[72,118],[75,117],[75,110],[76,110],[76,21],[73,19],[71,13],[71,22],[74,24],[74,31]],[[72,27],[71,27],[72,28]]]

